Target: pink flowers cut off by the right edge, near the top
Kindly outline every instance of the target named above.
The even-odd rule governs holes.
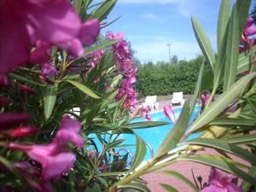
[[[252,17],[247,18],[246,26],[243,30],[241,41],[239,44],[239,51],[244,52],[250,47],[252,47],[255,42],[253,35],[256,34],[256,26],[254,25],[254,20]]]

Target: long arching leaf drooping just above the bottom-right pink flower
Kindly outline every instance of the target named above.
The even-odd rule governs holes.
[[[198,162],[202,164],[206,164],[208,166],[214,166],[219,169],[222,169],[226,172],[230,172],[237,177],[241,177],[241,179],[249,182],[249,183],[256,183],[256,179],[253,178],[252,176],[248,175],[246,172],[242,171],[237,167],[235,163],[231,163],[231,161],[226,160],[226,158],[216,158],[216,156],[203,156],[203,155],[198,155],[198,156],[191,156],[191,157],[181,157],[178,158],[177,160],[189,160],[193,162]]]

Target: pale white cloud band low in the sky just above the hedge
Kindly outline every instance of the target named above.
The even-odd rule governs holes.
[[[194,59],[196,55],[201,54],[201,49],[196,42],[189,41],[171,41],[171,55],[177,55],[179,60]],[[147,61],[169,61],[169,52],[167,40],[153,40],[147,43],[132,45],[136,50],[137,58],[142,62]]]

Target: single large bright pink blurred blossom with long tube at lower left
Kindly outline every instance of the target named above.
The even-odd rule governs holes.
[[[55,139],[49,144],[26,145],[9,143],[8,147],[20,150],[37,161],[42,166],[42,182],[57,179],[68,172],[76,159],[75,154],[68,152],[68,143],[82,148],[84,140],[79,136],[81,124],[79,121],[65,115],[61,120],[61,128],[55,134]]]

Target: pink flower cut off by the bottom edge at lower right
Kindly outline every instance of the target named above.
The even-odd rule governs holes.
[[[209,183],[210,185],[202,189],[201,192],[243,192],[242,189],[232,183],[234,176],[226,176],[224,172],[213,168],[210,172]]]

